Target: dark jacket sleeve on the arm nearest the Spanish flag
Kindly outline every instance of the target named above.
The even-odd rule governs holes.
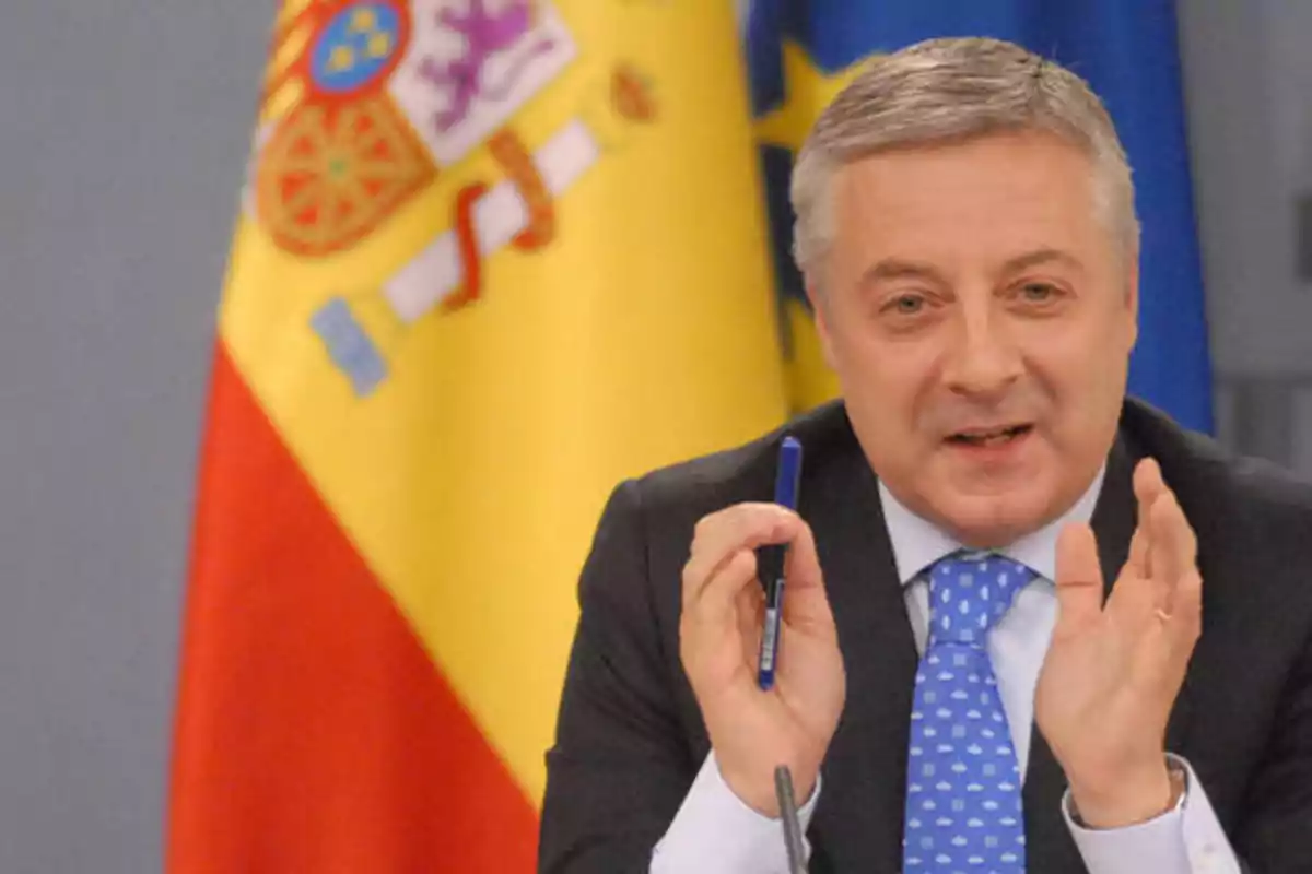
[[[636,482],[622,484],[606,503],[579,608],[546,757],[538,870],[638,874],[648,870],[699,763],[676,714]]]

